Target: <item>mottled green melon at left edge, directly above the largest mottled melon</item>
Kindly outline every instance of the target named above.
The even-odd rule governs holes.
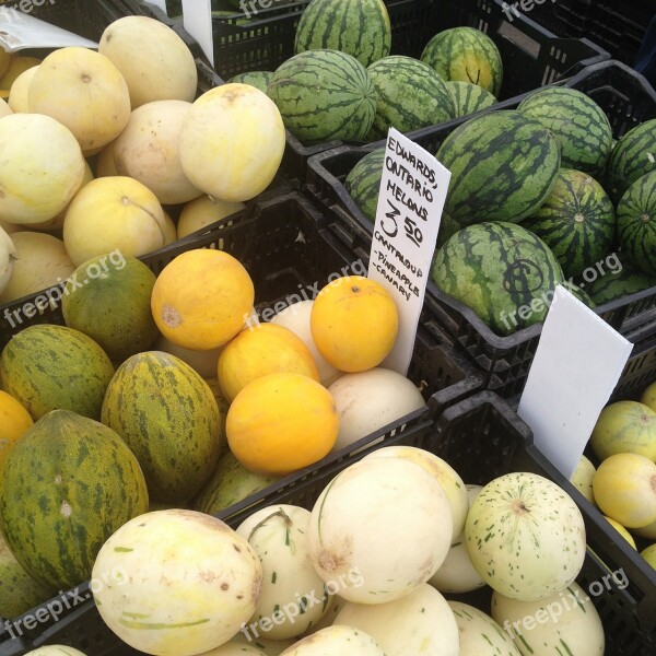
[[[35,421],[50,410],[99,419],[114,375],[108,355],[91,337],[65,326],[30,326],[0,355],[0,387]]]

